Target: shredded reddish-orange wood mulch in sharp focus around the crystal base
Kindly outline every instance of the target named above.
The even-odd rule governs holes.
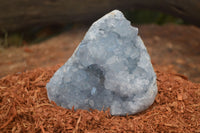
[[[136,115],[64,109],[50,103],[45,85],[59,68],[0,79],[0,132],[200,132],[200,84],[156,70],[154,104]]]

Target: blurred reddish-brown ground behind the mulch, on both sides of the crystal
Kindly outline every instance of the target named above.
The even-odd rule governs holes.
[[[36,45],[1,50],[0,77],[66,62],[86,30],[78,27]],[[154,66],[200,82],[200,28],[142,25],[139,31]]]

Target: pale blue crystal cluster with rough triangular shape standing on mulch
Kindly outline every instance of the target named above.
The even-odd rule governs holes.
[[[118,10],[93,23],[47,84],[49,100],[65,108],[109,107],[112,115],[148,108],[157,94],[156,74],[137,34]]]

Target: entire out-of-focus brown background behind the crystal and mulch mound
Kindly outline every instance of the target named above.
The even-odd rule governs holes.
[[[94,21],[119,9],[155,69],[200,83],[199,0],[0,1],[0,78],[63,64]]]

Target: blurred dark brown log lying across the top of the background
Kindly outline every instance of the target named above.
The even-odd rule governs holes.
[[[200,0],[0,0],[0,30],[65,24],[101,17],[113,9],[164,11],[200,26]]]

